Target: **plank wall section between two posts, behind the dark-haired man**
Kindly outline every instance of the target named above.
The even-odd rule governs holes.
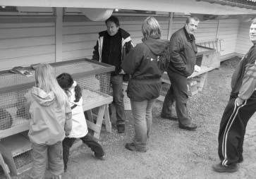
[[[145,17],[118,17],[120,27],[130,33],[134,44],[142,39],[141,25]],[[162,39],[167,39],[169,18],[157,17],[162,29]],[[63,61],[75,58],[92,58],[98,32],[106,30],[104,22],[63,23]]]

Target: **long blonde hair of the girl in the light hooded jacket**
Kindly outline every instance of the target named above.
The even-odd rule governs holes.
[[[35,70],[35,82],[37,87],[44,90],[44,92],[54,92],[59,104],[64,104],[68,101],[66,93],[59,86],[55,74],[54,68],[49,64],[41,63]]]

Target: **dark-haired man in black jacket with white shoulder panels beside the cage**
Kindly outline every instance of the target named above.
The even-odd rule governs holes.
[[[130,34],[119,27],[119,20],[111,16],[106,21],[106,30],[99,32],[99,39],[93,51],[93,60],[115,66],[111,73],[111,85],[113,88],[113,101],[116,106],[116,127],[118,133],[125,131],[126,117],[123,106],[123,69],[121,62],[133,44]]]

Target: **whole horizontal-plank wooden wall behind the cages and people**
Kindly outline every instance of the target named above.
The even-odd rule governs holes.
[[[135,44],[141,42],[141,25],[145,16],[119,16],[121,27],[127,30]],[[162,39],[183,27],[185,18],[173,18],[169,29],[169,17],[156,17],[162,28]],[[32,63],[56,61],[55,21],[0,23],[0,70]],[[200,22],[195,38],[197,43],[221,40],[221,55],[248,50],[248,27],[233,20],[204,20]],[[238,30],[239,29],[239,30]],[[91,58],[98,32],[106,30],[104,22],[63,18],[62,60]],[[239,31],[239,32],[238,32]],[[246,31],[246,32],[245,32]],[[238,40],[237,40],[238,39]],[[220,48],[221,46],[221,48]],[[246,47],[245,47],[246,46]]]

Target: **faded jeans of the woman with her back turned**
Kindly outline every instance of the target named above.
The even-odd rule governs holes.
[[[134,118],[135,137],[133,143],[138,149],[146,149],[152,127],[152,107],[156,99],[145,101],[130,100]]]

